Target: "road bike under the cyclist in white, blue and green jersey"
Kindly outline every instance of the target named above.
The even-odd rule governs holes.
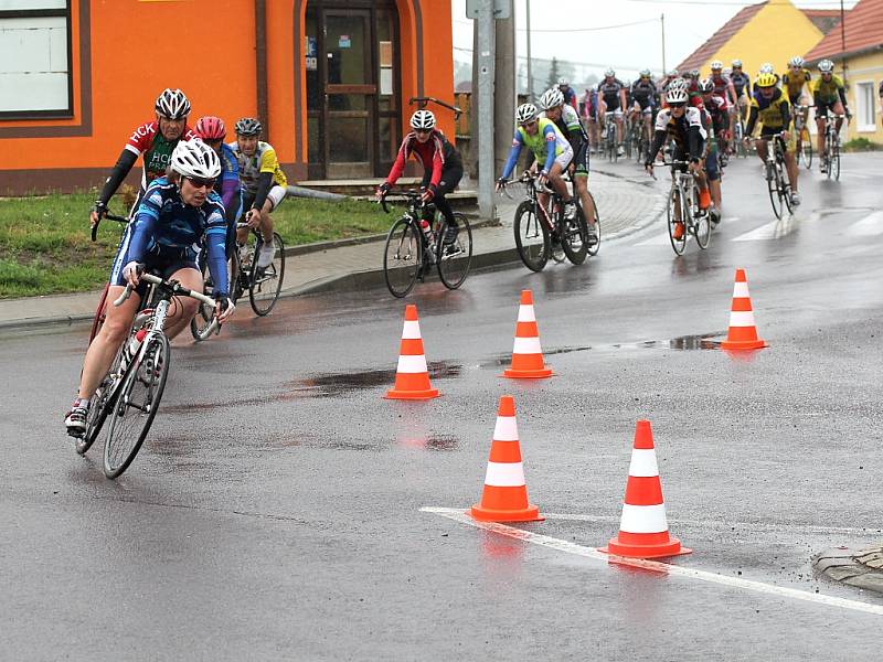
[[[556,263],[568,259],[574,265],[585,261],[587,255],[597,255],[600,247],[600,221],[597,216],[595,199],[589,193],[592,206],[595,207],[595,233],[591,233],[578,196],[573,201],[576,214],[573,218],[565,216],[564,201],[553,189],[541,186],[539,175],[530,170],[524,171],[517,180],[525,188],[525,200],[518,205],[513,231],[515,247],[524,266],[532,271],[541,271],[549,258]],[[501,182],[503,192],[512,182]],[[540,195],[549,196],[549,202],[540,203]]]

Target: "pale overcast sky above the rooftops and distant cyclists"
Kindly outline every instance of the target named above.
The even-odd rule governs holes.
[[[519,57],[526,53],[525,2],[531,2],[531,56],[582,63],[579,72],[602,74],[613,66],[631,79],[643,67],[662,71],[662,31],[666,20],[666,66],[673,68],[695,51],[743,7],[736,0],[513,0]],[[788,0],[772,0],[787,2]],[[857,0],[847,0],[845,9]],[[802,9],[839,9],[840,2],[796,0]],[[453,0],[454,55],[471,61],[472,21],[466,0]],[[608,29],[609,28],[609,29]],[[775,35],[770,35],[775,39]],[[728,64],[728,63],[727,63]]]

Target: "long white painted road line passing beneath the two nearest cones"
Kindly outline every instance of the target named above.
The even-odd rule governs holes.
[[[514,526],[507,526],[506,524],[498,524],[496,522],[478,522],[469,515],[466,511],[453,508],[422,508],[422,512],[442,515],[448,520],[454,520],[460,524],[468,524],[477,528],[483,528],[504,535],[511,538],[533,543],[558,552],[574,554],[584,558],[599,560],[602,563],[615,563],[618,565],[626,565],[635,568],[642,568],[646,570],[655,570],[658,573],[666,573],[678,577],[687,577],[688,579],[699,579],[700,581],[708,581],[710,584],[719,584],[731,588],[742,588],[745,590],[753,590],[756,592],[768,594],[783,598],[794,598],[796,600],[806,600],[807,602],[816,602],[819,605],[827,605],[828,607],[840,607],[842,609],[852,609],[854,611],[864,611],[865,613],[875,613],[883,616],[883,605],[869,605],[866,602],[858,602],[855,600],[847,600],[844,598],[836,598],[833,596],[826,596],[822,594],[811,594],[805,590],[797,590],[794,588],[786,588],[784,586],[773,586],[770,584],[763,584],[762,581],[753,581],[751,579],[742,579],[740,577],[727,577],[726,575],[717,575],[716,573],[709,573],[705,570],[698,570],[658,560],[646,560],[640,558],[626,558],[624,556],[616,556],[614,554],[605,554],[598,552],[594,547],[583,547],[575,543],[563,541],[561,538],[533,533],[531,531],[523,531]]]

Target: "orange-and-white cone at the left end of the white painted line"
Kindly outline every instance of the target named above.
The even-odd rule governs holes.
[[[538,522],[543,520],[540,509],[528,503],[524,467],[518,444],[515,401],[511,395],[500,398],[497,426],[490,445],[488,471],[481,503],[469,511],[482,522]]]

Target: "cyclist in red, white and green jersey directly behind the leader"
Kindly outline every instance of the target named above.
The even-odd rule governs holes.
[[[107,203],[117,192],[119,184],[129,174],[138,157],[143,157],[143,170],[141,172],[141,189],[138,199],[131,211],[138,209],[138,204],[155,179],[166,173],[169,159],[178,141],[183,137],[189,140],[193,137],[193,131],[187,126],[187,117],[190,115],[190,102],[187,95],[180,89],[166,88],[157,97],[153,104],[156,119],[148,121],[136,128],[129,136],[125,148],[117,159],[114,170],[102,188],[98,200],[89,214],[92,225],[107,213]]]

